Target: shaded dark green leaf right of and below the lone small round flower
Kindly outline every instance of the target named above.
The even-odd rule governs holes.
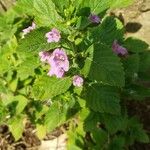
[[[109,114],[120,114],[117,89],[110,86],[93,84],[85,91],[87,106],[94,111]]]

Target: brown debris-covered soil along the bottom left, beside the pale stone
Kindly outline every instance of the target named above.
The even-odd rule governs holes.
[[[66,125],[56,128],[53,132],[46,135],[44,141],[50,141],[64,134]],[[41,140],[35,134],[35,127],[27,123],[21,139],[15,141],[6,125],[0,126],[0,150],[39,150]],[[50,145],[49,145],[50,146]]]

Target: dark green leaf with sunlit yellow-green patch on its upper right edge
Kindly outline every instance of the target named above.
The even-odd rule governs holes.
[[[122,22],[112,16],[106,17],[102,23],[91,29],[91,38],[95,41],[101,41],[112,46],[114,40],[123,39],[124,28]]]

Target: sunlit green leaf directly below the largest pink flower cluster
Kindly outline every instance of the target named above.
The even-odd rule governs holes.
[[[36,99],[47,100],[65,93],[72,82],[69,77],[58,79],[55,77],[41,76],[33,86],[33,95]]]

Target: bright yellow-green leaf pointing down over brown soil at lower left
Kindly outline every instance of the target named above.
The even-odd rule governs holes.
[[[16,117],[10,120],[9,130],[14,136],[16,141],[21,138],[23,129],[24,129],[24,125],[23,125],[22,117]]]

